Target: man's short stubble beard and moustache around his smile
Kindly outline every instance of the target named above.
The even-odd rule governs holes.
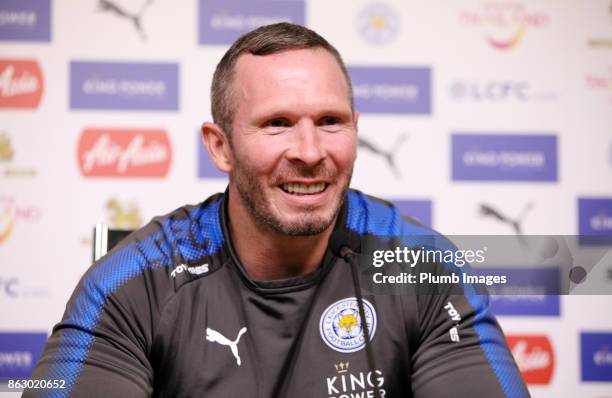
[[[236,184],[242,203],[245,204],[249,214],[257,224],[288,236],[312,236],[327,230],[340,212],[353,174],[351,166],[347,173],[348,178],[346,179],[345,186],[342,187],[340,192],[340,197],[334,198],[334,203],[330,204],[330,206],[334,206],[332,211],[325,215],[317,216],[313,214],[314,207],[306,207],[297,220],[287,220],[282,219],[282,215],[274,212],[270,198],[265,194],[264,187],[258,183],[256,176],[248,170],[249,167],[247,165],[243,165],[242,162],[236,159],[234,171],[230,175],[230,184]],[[337,181],[338,174],[317,166],[309,170],[292,169],[282,174],[282,177],[281,175],[275,176],[273,180],[283,181],[281,178],[286,180],[288,176],[309,178],[324,176],[327,179],[332,177],[333,180]]]

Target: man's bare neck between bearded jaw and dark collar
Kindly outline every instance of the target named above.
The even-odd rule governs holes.
[[[329,228],[318,235],[289,236],[260,225],[230,189],[229,225],[238,257],[253,280],[285,279],[315,271],[323,260]]]

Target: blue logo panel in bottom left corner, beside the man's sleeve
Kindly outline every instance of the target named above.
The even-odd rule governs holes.
[[[30,378],[46,341],[46,333],[0,333],[0,380]]]

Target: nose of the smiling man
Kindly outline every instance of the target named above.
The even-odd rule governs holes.
[[[326,156],[323,137],[312,121],[301,121],[296,125],[287,158],[308,166],[315,166]]]

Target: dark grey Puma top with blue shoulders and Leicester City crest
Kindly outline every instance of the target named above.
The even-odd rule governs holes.
[[[94,263],[32,375],[63,388],[23,396],[529,396],[488,296],[473,286],[375,293],[365,288],[372,267],[361,267],[358,302],[351,266],[330,249],[311,274],[254,281],[230,238],[228,200],[154,218]],[[334,228],[381,250],[436,235],[354,190]]]

